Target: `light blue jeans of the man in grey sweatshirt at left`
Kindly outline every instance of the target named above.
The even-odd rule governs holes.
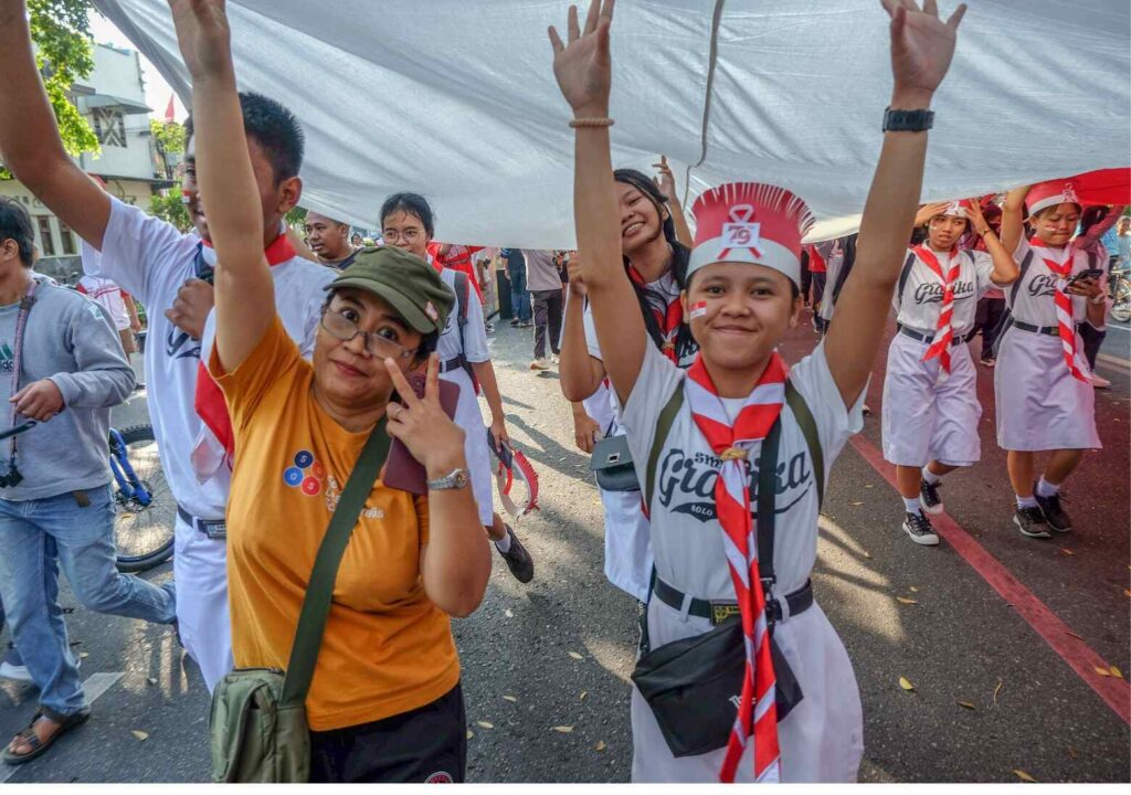
[[[176,616],[172,582],[158,588],[118,572],[110,486],[85,494],[86,507],[70,493],[0,499],[0,599],[40,703],[61,715],[86,700],[59,605],[60,567],[84,607],[162,624]]]

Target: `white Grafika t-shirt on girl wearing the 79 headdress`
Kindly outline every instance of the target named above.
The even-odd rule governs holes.
[[[683,388],[685,371],[672,364],[654,346],[647,347],[636,387],[621,421],[641,483],[659,414],[676,389]],[[845,442],[863,427],[864,389],[856,405],[846,411],[824,358],[824,345],[789,370],[789,380],[809,405],[817,422],[828,481],[832,463]],[[743,400],[724,400],[733,418]],[[782,407],[782,447],[778,458],[777,522],[774,568],[778,594],[801,588],[817,560],[819,512],[813,461],[801,427],[788,405]],[[751,505],[757,505],[757,456],[751,464]],[[715,517],[715,482],[719,460],[691,416],[684,401],[663,442],[651,500],[651,548],[656,573],[685,594],[703,599],[734,600],[734,586],[723,547],[723,529]]]

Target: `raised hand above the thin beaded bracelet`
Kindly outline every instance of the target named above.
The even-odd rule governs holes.
[[[612,62],[608,58],[608,27],[613,23],[614,0],[590,0],[585,29],[578,27],[577,6],[569,7],[568,43],[553,25],[550,43],[554,47],[554,77],[566,102],[578,116],[608,115]]]

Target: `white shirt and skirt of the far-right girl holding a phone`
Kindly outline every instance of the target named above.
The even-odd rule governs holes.
[[[1063,249],[1033,247],[1022,237],[1013,259],[1027,267],[1005,288],[1013,320],[1056,327],[1056,275],[1044,259],[1059,261]],[[1073,249],[1072,274],[1086,270],[1088,254]],[[1099,265],[1097,267],[1103,267]],[[1072,318],[1086,322],[1088,300],[1071,295]],[[1103,444],[1096,431],[1096,394],[1090,383],[1072,377],[1064,362],[1060,336],[1008,328],[999,340],[993,384],[998,404],[998,446],[1004,450],[1083,450]],[[1076,335],[1077,366],[1090,373],[1083,340]]]

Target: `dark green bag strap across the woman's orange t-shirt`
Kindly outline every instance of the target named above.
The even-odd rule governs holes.
[[[357,456],[357,463],[354,464],[346,487],[342,490],[338,505],[334,509],[334,516],[330,517],[330,526],[318,547],[310,584],[307,586],[307,597],[302,600],[302,613],[299,614],[299,627],[294,632],[291,659],[286,666],[282,706],[294,706],[307,700],[310,681],[314,676],[314,665],[318,663],[318,651],[322,646],[326,619],[330,614],[338,565],[342,563],[342,556],[345,554],[362,508],[365,507],[365,499],[372,492],[373,483],[389,452],[389,434],[385,432],[385,420],[381,417],[365,440],[365,447]]]

